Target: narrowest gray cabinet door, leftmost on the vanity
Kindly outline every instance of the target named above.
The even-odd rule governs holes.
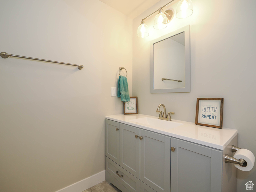
[[[120,163],[120,123],[105,120],[105,155],[119,165]]]

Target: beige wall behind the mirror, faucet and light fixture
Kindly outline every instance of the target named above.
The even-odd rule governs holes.
[[[238,146],[256,155],[255,142],[255,1],[193,0],[194,13],[174,19],[163,30],[153,29],[154,16],[145,20],[147,38],[137,37],[141,19],[168,3],[162,0],[133,19],[133,96],[138,111],[158,116],[158,104],[175,112],[173,119],[195,122],[196,98],[224,98],[223,126],[238,129]],[[178,1],[165,9],[176,9]],[[164,9],[164,10],[165,10]],[[190,25],[191,92],[150,93],[150,41]],[[237,173],[237,191],[256,183],[256,168]]]

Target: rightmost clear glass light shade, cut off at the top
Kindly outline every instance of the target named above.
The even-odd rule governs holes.
[[[176,17],[184,19],[193,13],[193,4],[191,0],[180,0],[176,8]]]

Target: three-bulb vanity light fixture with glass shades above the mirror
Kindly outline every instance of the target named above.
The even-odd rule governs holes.
[[[172,3],[174,0],[170,1],[166,5]],[[168,10],[163,10],[163,8],[166,6],[164,5],[163,7],[160,7],[158,10],[156,10],[154,13],[158,12],[154,19],[154,28],[155,29],[164,29],[167,27],[167,24],[172,20],[173,18],[173,11],[168,9]],[[142,19],[142,22],[140,26],[138,27],[137,30],[137,36],[144,38],[149,35],[148,33],[148,26],[145,24],[144,20],[153,15],[154,13],[148,15],[144,19]],[[193,5],[191,0],[180,0],[177,8],[176,8],[176,17],[177,18],[187,18],[193,13]]]

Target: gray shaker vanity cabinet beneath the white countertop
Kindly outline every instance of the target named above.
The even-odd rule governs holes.
[[[236,191],[232,155],[237,135],[223,150],[106,119],[105,178],[123,192]]]

